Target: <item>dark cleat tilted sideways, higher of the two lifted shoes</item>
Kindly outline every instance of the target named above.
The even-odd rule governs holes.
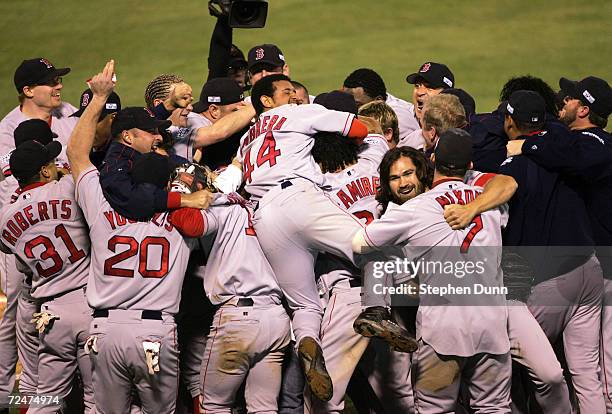
[[[398,352],[414,352],[419,347],[408,331],[399,326],[382,306],[366,308],[353,322],[353,329],[368,338],[384,340]]]

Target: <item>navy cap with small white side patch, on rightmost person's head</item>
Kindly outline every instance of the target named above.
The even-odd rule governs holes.
[[[559,86],[565,96],[580,99],[602,118],[608,118],[612,113],[612,89],[605,80],[595,76],[586,77],[581,81],[561,78]]]

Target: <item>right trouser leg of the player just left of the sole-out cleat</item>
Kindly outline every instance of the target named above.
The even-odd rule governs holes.
[[[259,355],[254,359],[246,380],[247,412],[276,413],[283,360],[291,341],[289,316],[280,305],[256,309],[255,315],[260,323],[255,343]]]

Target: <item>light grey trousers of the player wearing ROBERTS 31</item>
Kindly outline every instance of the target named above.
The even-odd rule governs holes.
[[[83,291],[78,290],[42,304],[41,312],[58,315],[59,319],[53,320],[40,334],[37,394],[56,395],[60,403],[65,405],[79,366],[79,345],[82,346],[85,342],[91,310],[87,306]],[[79,335],[80,333],[82,334]],[[85,368],[81,378],[86,391],[86,412],[89,413],[93,411],[91,367],[87,364]],[[31,407],[29,412],[54,413],[57,408],[56,405]]]

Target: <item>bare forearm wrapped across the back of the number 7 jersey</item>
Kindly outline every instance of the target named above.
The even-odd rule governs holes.
[[[484,186],[482,194],[473,201],[465,205],[445,206],[444,219],[453,230],[464,229],[478,214],[507,203],[517,188],[518,184],[513,177],[497,174]]]

